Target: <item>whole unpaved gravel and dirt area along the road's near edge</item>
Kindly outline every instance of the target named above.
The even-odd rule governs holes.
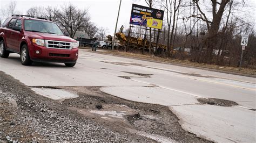
[[[209,142],[181,128],[166,106],[126,101],[100,87],[55,101],[0,71],[0,141]]]

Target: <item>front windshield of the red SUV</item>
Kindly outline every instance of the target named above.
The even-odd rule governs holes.
[[[51,22],[27,19],[24,22],[24,27],[25,27],[25,31],[64,35],[62,30],[60,30],[59,26]]]

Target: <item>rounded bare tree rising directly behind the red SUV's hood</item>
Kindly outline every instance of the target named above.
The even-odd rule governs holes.
[[[58,12],[57,23],[73,38],[78,30],[88,25],[89,20],[88,10],[79,10],[76,6],[69,4],[63,6]]]

